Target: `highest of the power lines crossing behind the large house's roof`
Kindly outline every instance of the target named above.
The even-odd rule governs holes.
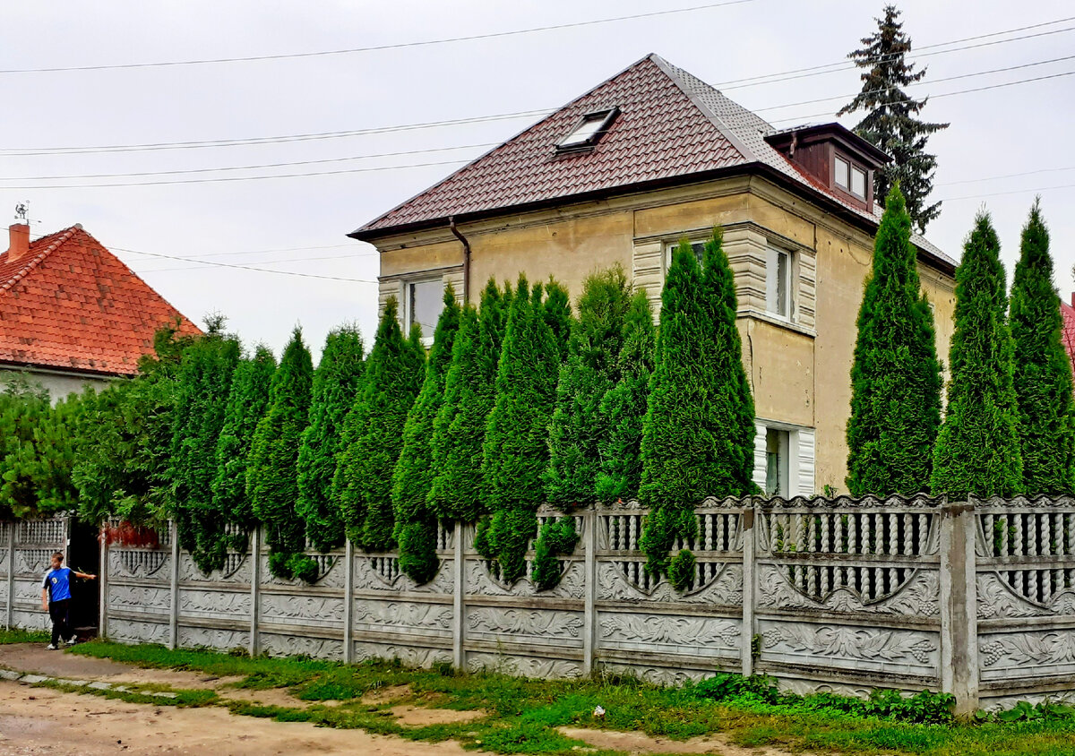
[[[933,48],[933,47],[938,47],[938,46],[947,46],[947,45],[958,44],[958,43],[965,42],[965,41],[973,41],[973,40],[983,39],[983,38],[987,38],[987,37],[995,37],[998,34],[1014,33],[1016,31],[1024,31],[1024,30],[1028,30],[1028,29],[1040,28],[1040,27],[1043,27],[1043,26],[1050,26],[1050,25],[1054,25],[1054,24],[1060,24],[1060,23],[1067,22],[1067,20],[1075,20],[1075,16],[1067,17],[1067,18],[1060,18],[1060,19],[1056,19],[1056,20],[1052,20],[1052,22],[1044,22],[1042,24],[1034,24],[1034,25],[1026,26],[1026,27],[1017,27],[1017,28],[1013,28],[1013,29],[1005,29],[1005,30],[1001,30],[1001,31],[994,31],[994,32],[990,32],[988,34],[979,34],[977,37],[968,37],[968,38],[963,38],[963,39],[960,39],[960,40],[950,40],[948,42],[938,42],[938,43],[935,43],[935,44],[932,44],[932,45],[926,45],[924,47],[920,47],[919,49],[927,49],[927,48]],[[1075,30],[1075,27],[1066,27],[1064,29],[1055,29],[1055,30],[1051,30],[1051,31],[1048,31],[1048,32],[1042,32],[1042,33],[1037,33],[1037,34],[1024,34],[1022,37],[1013,37],[1010,39],[997,40],[994,42],[990,42],[990,43],[987,43],[987,44],[990,44],[990,45],[992,45],[992,44],[1003,44],[1003,43],[1006,43],[1006,42],[1016,42],[1016,41],[1023,40],[1023,39],[1032,39],[1032,38],[1035,38],[1035,37],[1042,37],[1044,34],[1061,33],[1061,32],[1066,32],[1066,31],[1072,31],[1072,30]],[[961,51],[964,51],[964,49],[972,49],[972,48],[981,47],[981,46],[985,46],[985,45],[968,45],[968,46],[964,46],[964,47],[952,47],[950,49],[936,51],[935,53],[926,53],[926,54],[922,54],[922,55],[924,56],[924,55],[934,55],[934,54],[941,54],[941,53],[956,53],[956,52],[961,52]],[[908,57],[914,58],[914,57],[917,57],[917,56],[918,56],[918,54],[912,53]],[[756,80],[756,79],[772,79],[771,82],[760,82],[760,83],[777,83],[777,82],[780,82],[780,81],[790,81],[790,80],[793,80],[793,79],[800,79],[801,76],[785,75],[785,74],[796,74],[796,73],[800,73],[800,72],[803,72],[803,71],[812,71],[812,70],[821,69],[821,68],[831,68],[833,66],[844,66],[844,68],[855,68],[854,63],[845,63],[844,61],[840,61],[840,62],[836,62],[836,63],[826,63],[825,66],[817,66],[817,67],[811,67],[811,68],[805,68],[805,69],[793,69],[791,71],[784,72],[783,74],[782,73],[774,73],[774,74],[765,74],[764,76],[755,76],[755,77],[751,77],[751,79],[730,80],[729,82],[720,83],[720,84],[717,84],[715,86],[718,87],[718,88],[722,87],[722,88],[726,88],[726,89],[734,89],[734,88],[739,88],[739,87],[735,87],[735,86],[726,86],[726,85],[736,84],[736,83],[740,83],[740,82],[752,81],[752,80]],[[843,69],[841,69],[841,70],[843,70]],[[744,84],[743,86],[747,86],[747,85]],[[454,119],[448,119],[448,120],[436,120],[436,122],[427,122],[427,123],[418,123],[418,124],[404,124],[404,125],[400,125],[400,126],[386,126],[386,127],[370,128],[370,129],[355,129],[355,130],[348,130],[348,131],[324,131],[324,132],[314,132],[314,133],[285,134],[285,135],[276,135],[276,137],[255,137],[255,138],[230,139],[230,140],[205,140],[205,141],[186,141],[186,142],[156,142],[156,143],[144,143],[144,144],[114,144],[114,145],[97,145],[97,146],[83,146],[83,147],[70,147],[70,146],[68,146],[68,147],[64,147],[64,146],[60,146],[60,147],[9,147],[9,148],[0,148],[0,155],[8,155],[8,156],[11,156],[11,157],[35,157],[35,156],[44,156],[44,155],[78,155],[78,154],[95,154],[95,153],[110,153],[110,152],[143,152],[143,151],[163,151],[163,149],[192,149],[192,148],[205,148],[205,147],[231,147],[231,146],[246,146],[246,145],[257,145],[257,144],[276,144],[276,143],[282,143],[282,142],[301,142],[301,141],[321,140],[321,139],[342,139],[342,138],[360,137],[360,135],[375,134],[375,133],[390,133],[390,132],[407,131],[407,130],[415,130],[415,129],[428,129],[428,128],[440,128],[440,127],[446,127],[446,126],[458,126],[458,125],[467,125],[467,124],[489,123],[489,122],[508,120],[508,119],[516,119],[516,118],[522,118],[522,117],[529,117],[529,116],[539,116],[539,115],[540,116],[544,116],[544,115],[547,115],[547,114],[554,112],[555,110],[557,110],[557,109],[555,109],[555,108],[546,108],[546,109],[542,109],[542,110],[520,111],[520,112],[516,112],[516,113],[500,113],[500,114],[494,114],[494,115],[475,116],[475,117],[471,117],[471,118],[454,118]]]

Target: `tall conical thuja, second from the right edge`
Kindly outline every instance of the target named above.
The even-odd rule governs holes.
[[[956,269],[948,411],[932,475],[933,494],[952,499],[1009,497],[1022,487],[1000,246],[989,215],[979,213]]]

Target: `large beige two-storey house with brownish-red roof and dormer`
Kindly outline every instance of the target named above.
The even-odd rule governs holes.
[[[381,255],[382,306],[427,336],[447,283],[555,275],[574,297],[615,263],[656,308],[670,249],[714,226],[735,274],[757,411],[755,481],[845,487],[845,426],[862,284],[888,156],[838,124],[775,129],[648,55],[349,236]],[[948,354],[956,261],[912,240]]]

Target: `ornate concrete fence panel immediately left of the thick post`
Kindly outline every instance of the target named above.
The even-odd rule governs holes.
[[[938,502],[759,504],[756,670],[800,691],[937,688]]]

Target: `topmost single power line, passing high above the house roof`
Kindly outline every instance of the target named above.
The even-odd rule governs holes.
[[[25,69],[0,69],[0,74],[16,74],[16,73],[61,73],[69,71],[115,71],[119,69],[139,69],[139,68],[163,68],[163,67],[174,67],[174,66],[207,66],[212,63],[238,63],[238,62],[253,62],[258,60],[286,60],[293,58],[316,58],[325,57],[331,55],[352,55],[355,53],[372,53],[385,49],[401,49],[405,47],[426,47],[429,45],[448,44],[454,42],[473,42],[476,40],[491,40],[499,39],[502,37],[515,37],[518,34],[532,34],[542,31],[555,31],[559,29],[575,29],[586,26],[596,26],[599,24],[612,24],[626,20],[636,20],[639,18],[655,18],[657,16],[669,16],[677,13],[693,13],[694,11],[707,11],[715,8],[723,8],[726,5],[740,5],[747,2],[754,2],[755,0],[725,0],[725,2],[707,3],[705,5],[693,5],[691,8],[673,8],[664,11],[651,11],[649,13],[635,13],[627,16],[613,16],[610,18],[594,18],[587,22],[572,22],[570,24],[555,24],[549,26],[539,26],[529,29],[514,29],[512,31],[494,31],[487,32],[484,34],[468,34],[465,37],[452,37],[441,40],[425,40],[421,42],[399,42],[396,44],[386,45],[372,45],[369,47],[348,47],[344,49],[322,49],[314,51],[310,53],[282,53],[276,55],[252,55],[235,58],[202,58],[197,60],[162,60],[155,62],[144,62],[144,63],[112,63],[112,65],[101,65],[101,66],[64,66],[64,67],[53,67],[53,68],[25,68]]]

